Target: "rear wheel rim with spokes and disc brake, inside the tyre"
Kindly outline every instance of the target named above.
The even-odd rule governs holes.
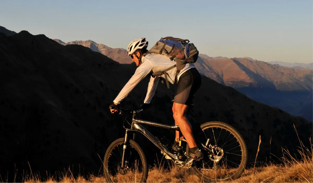
[[[197,139],[205,138],[205,140],[197,141],[197,145],[202,149],[203,159],[195,165],[203,176],[208,179],[223,180],[232,177],[240,170],[244,154],[242,144],[233,133],[221,126],[210,126],[203,129],[201,137]],[[208,138],[210,139],[208,144],[212,146],[206,150],[202,144],[205,145]]]

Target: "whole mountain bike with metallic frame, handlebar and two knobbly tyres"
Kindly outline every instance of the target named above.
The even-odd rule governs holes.
[[[238,149],[236,149],[237,151],[234,150],[234,153],[229,153],[227,151],[224,152],[223,147],[219,147],[216,142],[215,142],[215,145],[209,144],[210,139],[207,138],[206,134],[204,134],[205,138],[206,138],[206,143],[205,144],[202,143],[202,142],[204,142],[203,141],[204,139],[203,139],[203,137],[201,137],[202,140],[199,141],[198,148],[201,148],[201,151],[203,150],[203,153],[205,153],[203,155],[203,157],[207,157],[207,159],[205,159],[204,162],[200,161],[198,164],[195,164],[195,166],[193,166],[194,159],[188,158],[188,157],[190,157],[190,154],[188,151],[188,144],[186,144],[186,146],[184,146],[184,147],[186,147],[186,149],[184,149],[184,147],[181,147],[181,141],[184,141],[186,143],[187,143],[187,141],[186,141],[186,139],[183,138],[181,131],[179,129],[179,126],[170,126],[170,125],[165,125],[165,124],[161,124],[161,123],[137,119],[136,113],[141,112],[141,111],[142,111],[142,109],[140,109],[140,108],[138,110],[129,110],[129,109],[120,110],[120,112],[119,112],[120,115],[124,115],[124,113],[125,113],[125,114],[127,114],[127,117],[130,117],[128,114],[132,114],[132,121],[131,121],[131,123],[127,124],[127,127],[125,126],[126,119],[124,121],[123,127],[126,129],[126,133],[125,133],[125,137],[124,137],[124,143],[121,144],[121,139],[119,138],[116,141],[114,141],[114,143],[111,143],[111,145],[110,145],[110,148],[113,148],[113,149],[115,149],[115,147],[117,147],[118,152],[112,153],[113,149],[109,149],[109,148],[106,151],[105,161],[104,161],[104,167],[105,168],[111,167],[111,168],[115,169],[115,166],[117,165],[117,169],[115,169],[115,172],[116,173],[120,172],[123,175],[125,175],[125,173],[128,169],[134,168],[133,165],[135,165],[135,168],[136,168],[137,163],[138,163],[138,165],[140,165],[140,161],[142,161],[142,167],[141,168],[142,168],[143,172],[145,173],[142,175],[142,179],[146,178],[146,177],[144,177],[144,175],[147,176],[147,162],[146,162],[146,159],[144,158],[144,153],[142,152],[140,145],[135,142],[135,135],[136,135],[135,132],[140,132],[146,138],[148,138],[156,147],[158,147],[161,150],[161,153],[163,155],[165,155],[166,159],[171,159],[175,163],[175,165],[178,167],[192,168],[192,170],[195,172],[195,174],[203,180],[206,180],[206,181],[228,180],[228,179],[232,179],[233,177],[238,177],[242,173],[242,171],[244,171],[244,167],[247,163],[246,145],[244,143],[243,138],[239,134],[239,132],[236,131],[232,126],[228,125],[227,123],[223,123],[223,122],[219,122],[219,121],[211,121],[211,122],[204,123],[203,126],[201,125],[200,127],[201,127],[202,131],[206,130],[206,129],[211,129],[211,128],[213,130],[213,128],[216,127],[216,128],[221,129],[221,130],[224,130],[225,132],[232,134],[233,137],[231,139],[235,138],[234,140],[237,141],[239,144],[237,146],[234,145],[234,147],[230,147],[230,148],[234,149],[234,148],[239,147],[241,153],[235,153],[235,152],[239,152]],[[175,152],[169,150],[167,148],[167,146],[163,145],[159,141],[158,136],[152,135],[148,130],[146,130],[142,126],[144,124],[149,125],[149,126],[153,126],[153,127],[159,127],[159,128],[163,128],[163,129],[179,131],[179,137],[180,137],[179,140],[180,141],[179,141],[179,147],[177,148],[177,150],[175,150]],[[221,134],[221,130],[220,130],[219,135]],[[131,131],[133,133],[133,137],[129,137],[129,131]],[[210,134],[208,134],[208,135],[211,136]],[[219,135],[218,135],[218,137],[219,137]],[[228,135],[228,137],[229,137],[229,135]],[[214,140],[215,140],[214,132],[213,132],[213,136],[214,136]],[[227,137],[227,134],[224,137]],[[230,141],[230,140],[228,140],[228,137],[227,137],[225,143]],[[134,141],[132,141],[132,139]],[[132,148],[130,147],[131,143],[133,146]],[[222,143],[223,143],[223,145],[225,144],[224,139],[223,139]],[[234,142],[229,142],[228,145],[233,144],[233,143]],[[110,156],[112,154],[117,154],[118,156],[120,155],[120,153],[121,153],[120,145],[123,145],[122,157],[121,157],[122,160],[120,161],[119,157],[117,157],[118,161],[116,163],[114,161],[112,161],[113,164],[112,165],[110,164],[110,166],[109,166],[108,163],[110,161],[110,159],[109,159]],[[228,145],[226,145],[226,146],[228,146]],[[224,146],[224,147],[226,147],[226,146]],[[133,150],[134,148],[136,149],[136,151],[138,151],[138,154],[134,153],[134,151],[135,151],[135,150]],[[231,149],[229,149],[229,150],[231,150]],[[235,156],[234,160],[236,160],[236,161],[233,162],[231,160],[228,160],[228,157],[232,158],[232,156],[230,155],[230,156],[224,157],[224,153],[238,155],[238,156],[240,156],[240,159],[238,159],[238,156]],[[138,155],[140,156],[139,158],[137,157]],[[221,166],[217,167],[216,164],[222,158],[225,159],[225,161],[222,161]],[[114,159],[114,157],[113,157],[113,159]],[[239,160],[239,162],[237,163],[238,160]],[[211,162],[213,162],[213,164],[211,164]],[[228,165],[228,162],[230,162],[230,165]],[[232,164],[234,166],[232,166]],[[129,167],[128,165],[131,165],[132,167]],[[208,166],[205,166],[205,165],[208,165]],[[238,165],[238,167],[237,167],[237,165]],[[203,173],[204,170],[218,170],[217,168],[220,168],[221,170],[223,170],[221,172],[220,171],[217,172],[217,173],[223,174],[220,177],[214,176],[215,173],[213,174],[213,177],[206,176]],[[228,170],[226,170],[228,168],[231,169],[230,172]],[[225,169],[225,171],[224,171],[224,169]],[[236,169],[236,171],[232,172],[233,169]],[[105,178],[110,179],[109,169],[106,169],[106,170],[104,169],[104,171],[106,171],[106,173],[105,173],[106,177]],[[137,171],[137,169],[136,169],[136,171]],[[224,174],[225,174],[225,176],[228,176],[228,177],[224,177]]]

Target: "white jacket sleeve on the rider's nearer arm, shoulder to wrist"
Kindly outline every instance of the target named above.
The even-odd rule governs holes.
[[[131,90],[135,88],[135,86],[145,78],[151,71],[152,64],[149,61],[143,62],[135,71],[134,75],[129,79],[129,81],[125,84],[121,92],[117,95],[117,97],[113,100],[113,102],[120,104],[122,100],[124,100]]]

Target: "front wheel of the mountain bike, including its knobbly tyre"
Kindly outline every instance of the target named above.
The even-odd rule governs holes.
[[[124,138],[115,140],[105,152],[103,172],[107,182],[146,182],[148,167],[146,156],[141,147],[132,139],[124,155],[122,167]]]

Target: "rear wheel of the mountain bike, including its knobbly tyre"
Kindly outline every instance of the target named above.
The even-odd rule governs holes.
[[[194,162],[193,172],[208,182],[238,178],[248,158],[246,144],[239,132],[219,121],[206,122],[200,127],[202,132],[195,140],[203,159]]]

